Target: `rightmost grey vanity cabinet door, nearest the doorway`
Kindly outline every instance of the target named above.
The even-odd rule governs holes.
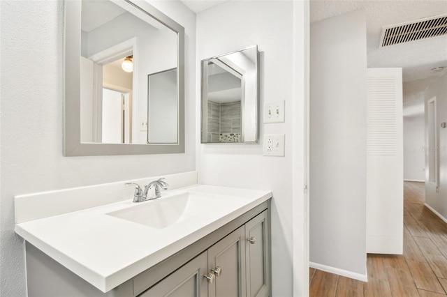
[[[247,297],[270,295],[270,244],[268,213],[264,211],[245,224]]]

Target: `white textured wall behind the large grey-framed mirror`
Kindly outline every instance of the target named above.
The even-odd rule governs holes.
[[[24,242],[14,233],[15,195],[195,169],[196,23],[182,3],[154,3],[186,29],[185,153],[66,158],[63,1],[0,1],[0,6],[0,296],[22,297],[27,295]]]

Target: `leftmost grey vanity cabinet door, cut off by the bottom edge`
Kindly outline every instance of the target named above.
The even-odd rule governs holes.
[[[205,251],[138,297],[206,297],[207,261]]]

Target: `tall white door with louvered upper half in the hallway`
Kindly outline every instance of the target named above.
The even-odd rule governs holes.
[[[367,252],[402,254],[402,69],[367,70]]]

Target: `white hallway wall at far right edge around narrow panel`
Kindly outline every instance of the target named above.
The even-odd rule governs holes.
[[[447,122],[447,75],[439,77],[437,82],[428,86],[425,91],[425,110],[427,101],[436,96],[437,99],[437,146],[429,148],[427,143],[427,114],[425,115],[425,203],[441,215],[447,222],[447,128],[441,128],[441,123]],[[439,192],[436,185],[428,182],[428,149],[438,151]]]

